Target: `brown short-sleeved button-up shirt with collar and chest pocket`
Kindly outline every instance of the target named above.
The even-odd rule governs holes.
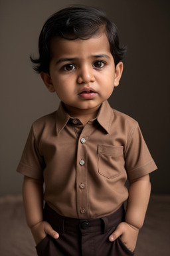
[[[35,121],[17,171],[43,179],[44,201],[60,215],[98,218],[128,198],[129,180],[157,169],[139,126],[105,101],[85,126],[58,110]]]

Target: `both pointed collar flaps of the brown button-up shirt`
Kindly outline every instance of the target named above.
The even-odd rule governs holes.
[[[64,109],[64,105],[60,102],[58,110],[56,111],[56,135],[64,129],[68,121],[70,120],[70,116],[66,113]],[[97,121],[98,123],[105,129],[107,133],[110,133],[110,127],[113,121],[113,111],[110,107],[108,101],[104,101],[100,107]]]

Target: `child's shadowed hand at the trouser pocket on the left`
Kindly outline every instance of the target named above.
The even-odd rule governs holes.
[[[31,232],[33,234],[36,244],[40,243],[42,239],[46,237],[46,235],[50,235],[54,239],[58,239],[59,237],[59,234],[54,231],[51,225],[46,221],[42,221],[31,227]]]

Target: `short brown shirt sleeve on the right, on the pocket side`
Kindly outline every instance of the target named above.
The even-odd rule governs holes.
[[[143,139],[138,123],[135,123],[129,135],[125,150],[128,179],[137,179],[157,169],[149,149]]]

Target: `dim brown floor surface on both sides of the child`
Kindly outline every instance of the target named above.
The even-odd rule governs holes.
[[[135,256],[170,255],[169,216],[170,195],[151,195]],[[20,195],[0,197],[0,252],[1,256],[37,255]]]

